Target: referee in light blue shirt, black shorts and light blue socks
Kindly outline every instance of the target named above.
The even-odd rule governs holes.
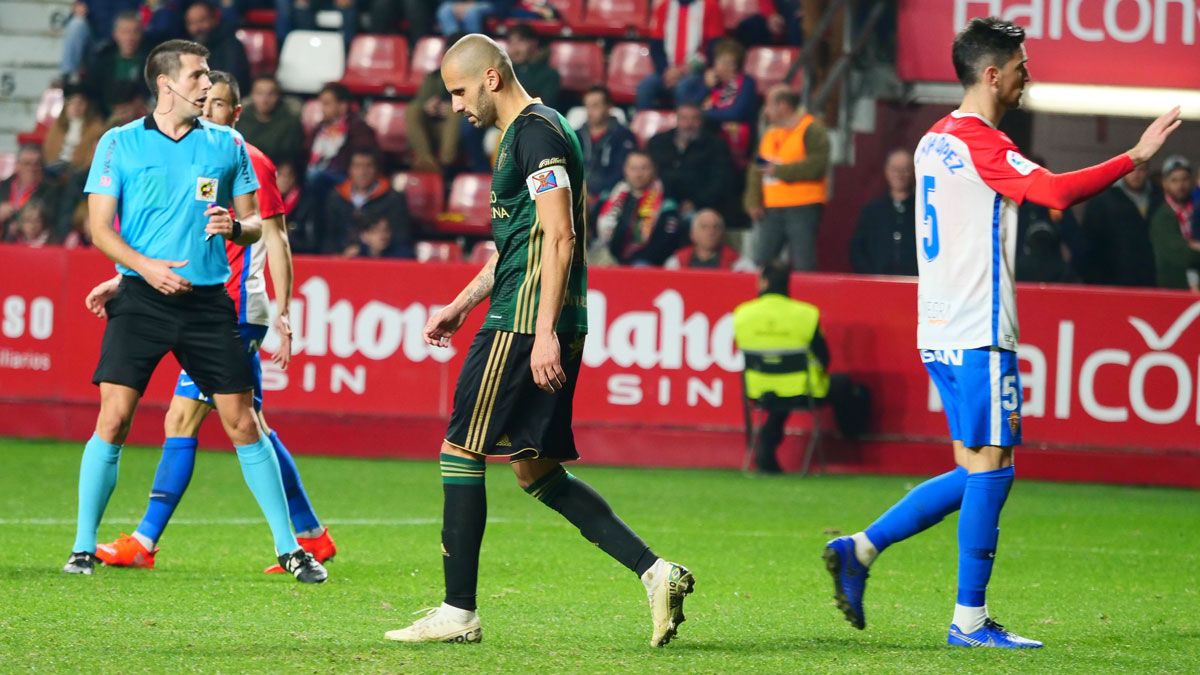
[[[124,276],[106,305],[108,325],[92,376],[100,416],[79,466],[76,542],[64,572],[91,574],[96,565],[96,530],[116,485],[121,443],[150,376],[172,352],[212,394],[280,565],[300,581],[320,583],[325,569],[292,533],[280,466],[256,420],[253,380],[224,289],[224,239],[257,241],[262,221],[258,180],[241,136],[199,119],[212,86],[208,55],[182,40],[155,47],[145,66],[157,97],[154,114],[104,133],[88,174],[92,243]],[[217,205],[230,202],[240,221]]]

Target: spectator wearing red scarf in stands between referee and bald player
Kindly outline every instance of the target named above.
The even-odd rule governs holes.
[[[350,154],[378,148],[374,131],[350,110],[350,90],[330,82],[317,95],[324,119],[308,145],[307,190],[324,201],[329,189],[346,180]]]

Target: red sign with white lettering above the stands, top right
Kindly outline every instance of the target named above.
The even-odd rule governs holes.
[[[1200,88],[1195,0],[900,0],[898,72],[956,82],[954,35],[973,17],[1026,30],[1034,82]]]

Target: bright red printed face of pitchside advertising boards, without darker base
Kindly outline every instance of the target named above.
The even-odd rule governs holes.
[[[264,359],[271,414],[444,424],[484,312],[475,312],[450,350],[426,346],[421,328],[474,271],[455,264],[298,259],[292,366],[282,372]],[[96,401],[91,372],[103,322],[86,312],[83,298],[112,273],[95,251],[0,246],[0,405]],[[739,431],[742,359],[731,311],[754,293],[751,275],[590,270],[590,334],[576,422]],[[876,438],[946,440],[946,420],[914,347],[912,281],[797,275],[793,294],[822,309],[833,370],[870,388]],[[1027,446],[1198,450],[1195,295],[1021,287],[1019,305]],[[274,338],[264,347],[270,351]],[[169,399],[176,368],[160,368],[149,402]]]

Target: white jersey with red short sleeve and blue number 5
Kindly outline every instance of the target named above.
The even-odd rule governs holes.
[[[984,118],[958,110],[920,139],[917,347],[1016,350],[1016,210],[1045,169]]]

